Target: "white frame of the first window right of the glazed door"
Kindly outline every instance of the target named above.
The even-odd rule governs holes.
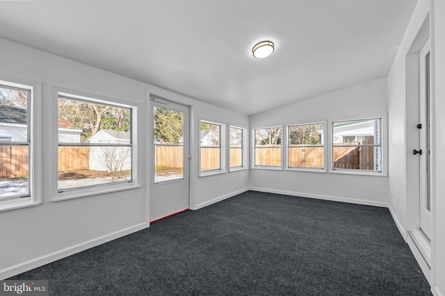
[[[215,146],[201,146],[201,123],[209,123],[209,124],[213,124],[213,125],[219,125],[220,126],[220,144],[219,144],[219,149],[220,149],[220,168],[217,169],[211,169],[211,170],[206,170],[206,171],[202,171],[201,170],[201,151],[202,148],[217,148]],[[209,119],[204,119],[204,118],[198,118],[198,124],[197,124],[197,147],[199,148],[198,150],[198,172],[199,172],[199,177],[206,177],[209,175],[218,175],[218,174],[222,174],[222,173],[227,173],[227,164],[226,164],[226,146],[227,146],[227,123],[220,123],[218,121],[213,121],[213,120],[209,120]]]

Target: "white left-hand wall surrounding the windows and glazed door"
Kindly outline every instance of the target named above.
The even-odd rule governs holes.
[[[151,150],[144,127],[152,120],[146,114],[147,89],[152,86],[1,39],[0,62],[0,80],[42,85],[41,100],[35,102],[42,106],[41,128],[54,131],[41,133],[42,204],[0,212],[0,225],[8,225],[1,227],[0,279],[147,227],[151,186],[147,168],[152,166],[152,157],[147,156]],[[51,197],[57,194],[56,173],[51,171],[56,167],[57,157],[54,87],[138,107],[139,188],[51,202]],[[198,116],[205,116],[248,125],[248,116],[190,98],[184,101],[193,106],[195,123]],[[191,208],[248,188],[248,171],[198,178],[195,162],[193,170],[191,183],[195,184],[196,202],[193,200]]]

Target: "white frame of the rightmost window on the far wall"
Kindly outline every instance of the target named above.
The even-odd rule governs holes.
[[[380,171],[367,171],[367,170],[355,170],[355,169],[348,169],[348,168],[334,168],[334,147],[341,147],[341,145],[334,146],[334,123],[338,122],[353,122],[353,121],[367,121],[367,120],[375,120],[380,119],[380,144],[373,144],[373,145],[353,145],[357,147],[367,147],[367,146],[373,146],[378,147],[380,146]],[[346,174],[346,175],[373,175],[373,176],[387,176],[387,116],[385,115],[370,115],[370,116],[351,116],[346,118],[340,118],[340,119],[330,119],[328,121],[328,125],[330,128],[330,137],[329,137],[329,146],[330,146],[330,164],[329,164],[329,173],[335,173],[335,174]],[[350,145],[348,145],[350,146]]]

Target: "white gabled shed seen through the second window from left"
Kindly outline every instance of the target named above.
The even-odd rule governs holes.
[[[90,137],[90,143],[130,143],[130,132],[116,130],[99,130]],[[110,171],[108,166],[118,166],[122,171],[131,169],[131,154],[129,147],[91,147],[90,167],[91,171]],[[121,167],[122,165],[122,167]]]

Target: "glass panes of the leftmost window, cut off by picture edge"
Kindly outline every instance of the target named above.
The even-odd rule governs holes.
[[[31,196],[31,89],[0,85],[0,200]]]

